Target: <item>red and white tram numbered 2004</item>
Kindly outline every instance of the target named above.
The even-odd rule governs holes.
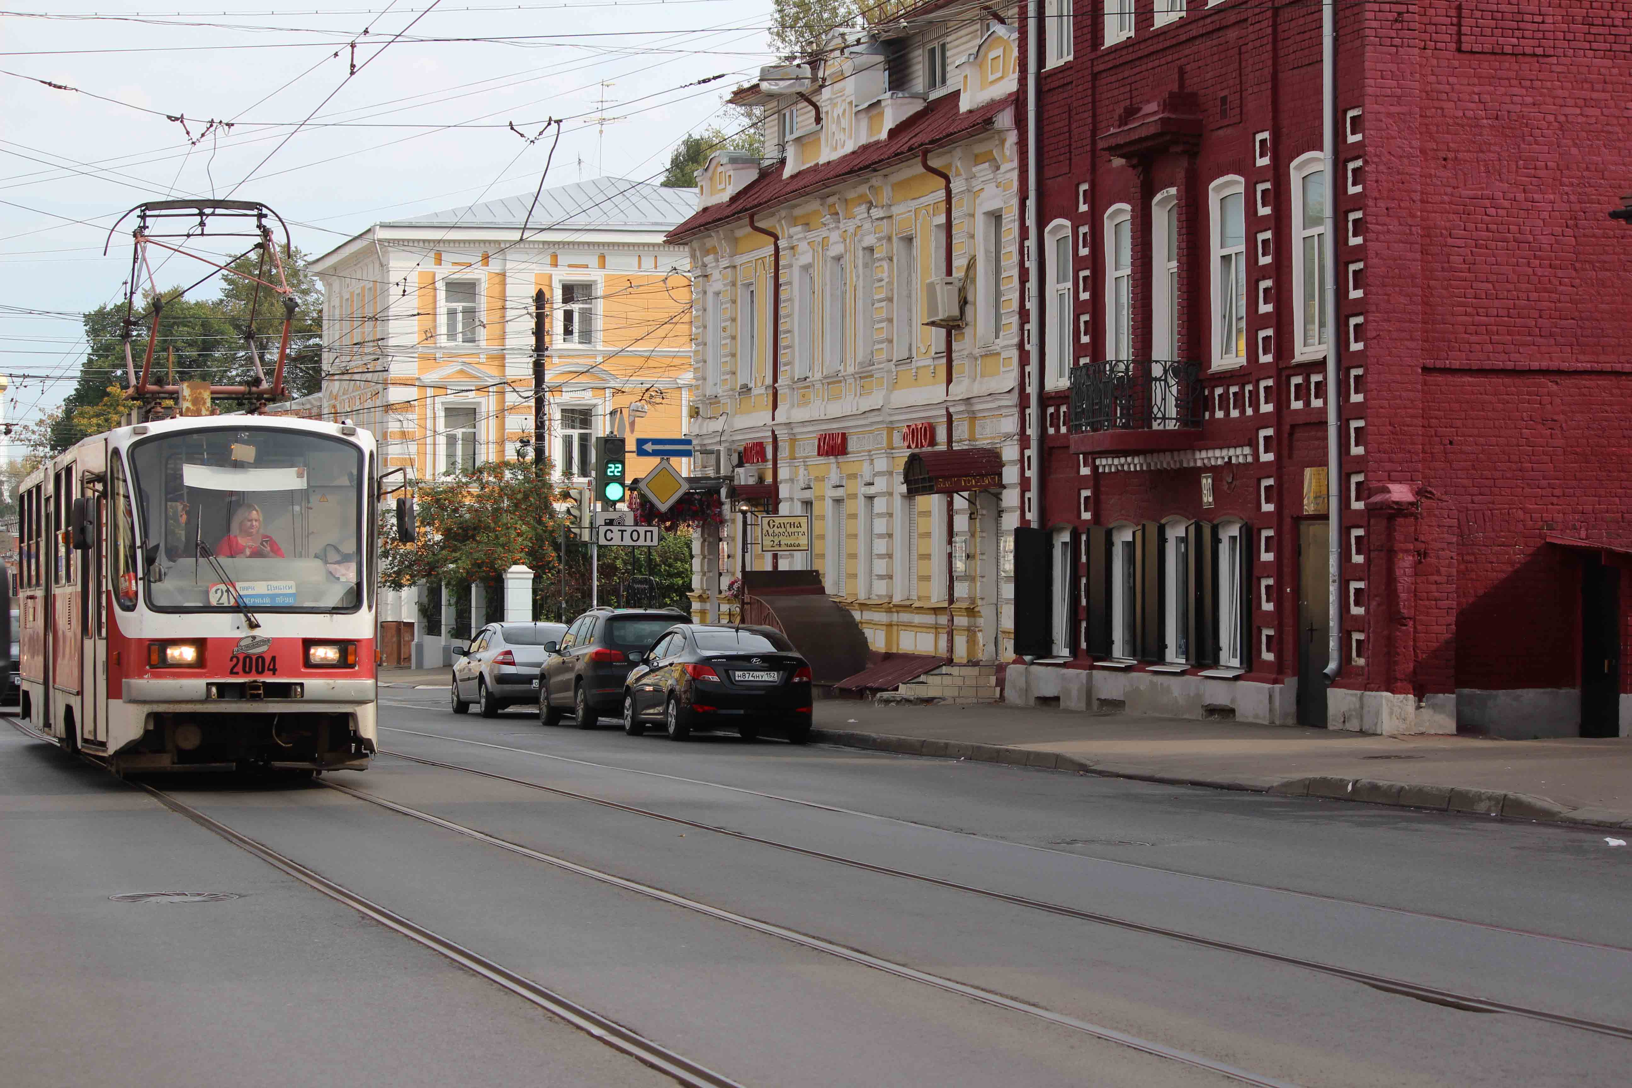
[[[351,424],[191,416],[21,489],[21,713],[114,772],[362,768],[379,465]]]

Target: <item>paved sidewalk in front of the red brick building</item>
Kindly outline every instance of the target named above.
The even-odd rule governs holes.
[[[813,741],[1632,830],[1632,737],[1377,737],[1007,706],[816,703]]]

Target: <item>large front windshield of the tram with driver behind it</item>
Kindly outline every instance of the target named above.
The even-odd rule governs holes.
[[[235,612],[233,586],[256,612],[349,612],[362,600],[356,445],[299,431],[186,431],[132,445],[131,470],[155,610]]]

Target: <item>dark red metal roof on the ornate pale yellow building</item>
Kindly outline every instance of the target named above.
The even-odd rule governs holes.
[[[917,155],[919,148],[973,135],[981,129],[991,127],[992,117],[1007,108],[1009,98],[1000,98],[979,109],[960,113],[958,95],[945,95],[898,124],[883,140],[863,144],[842,158],[819,166],[808,166],[792,178],[782,176],[782,163],[762,166],[759,176],[749,181],[741,192],[723,204],[702,209],[671,230],[666,241],[682,241],[726,220],[785,204],[852,175],[868,173],[883,163]]]

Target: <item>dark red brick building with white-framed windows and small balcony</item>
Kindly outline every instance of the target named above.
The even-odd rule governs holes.
[[[1632,189],[1624,5],[1338,3],[1330,179],[1319,3],[1043,15],[1022,160],[1044,375],[1025,480],[1043,489],[1023,512],[1046,535],[1022,532],[1017,571],[1046,576],[1017,581],[1015,641],[1046,664],[1012,667],[1010,698],[1627,734],[1632,225],[1608,217]]]

